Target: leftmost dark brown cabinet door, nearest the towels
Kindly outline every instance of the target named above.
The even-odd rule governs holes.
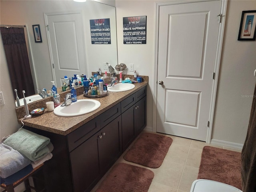
[[[100,174],[96,135],[70,152],[74,192],[86,191]]]

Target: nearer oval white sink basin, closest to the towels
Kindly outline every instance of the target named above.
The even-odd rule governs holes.
[[[53,113],[60,117],[74,117],[84,115],[100,107],[100,102],[93,99],[80,99],[67,106],[58,106]]]

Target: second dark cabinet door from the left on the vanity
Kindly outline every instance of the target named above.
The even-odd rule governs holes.
[[[98,132],[100,172],[104,174],[122,154],[121,116]]]

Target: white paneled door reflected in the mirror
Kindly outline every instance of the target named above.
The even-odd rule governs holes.
[[[48,42],[52,52],[53,76],[57,87],[64,76],[86,74],[82,18],[75,14],[48,14]]]

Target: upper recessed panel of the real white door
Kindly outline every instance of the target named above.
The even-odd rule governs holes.
[[[202,77],[207,14],[207,12],[170,14],[167,76]],[[192,28],[196,30],[188,30]],[[181,43],[181,38],[182,42],[186,43]]]

